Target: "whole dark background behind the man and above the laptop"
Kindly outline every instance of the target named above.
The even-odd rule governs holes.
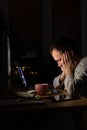
[[[15,62],[21,66],[32,66],[31,69],[36,69],[39,74],[38,78],[33,78],[36,79],[34,83],[52,83],[59,74],[57,64],[49,54],[49,46],[61,35],[73,38],[81,54],[86,55],[86,5],[85,0],[0,0],[5,24],[0,67],[3,79],[6,80],[3,86],[7,86],[8,75],[7,35],[12,69]]]

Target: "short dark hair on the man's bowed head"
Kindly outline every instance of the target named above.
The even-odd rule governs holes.
[[[59,39],[52,42],[49,48],[50,54],[52,53],[53,49],[57,49],[61,52],[72,50],[74,53],[79,54],[79,50],[75,41],[65,36],[62,36]]]

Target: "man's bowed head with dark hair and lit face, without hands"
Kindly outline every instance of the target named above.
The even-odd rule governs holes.
[[[69,52],[72,58],[74,58],[75,55],[78,55],[76,43],[71,38],[61,37],[54,41],[50,46],[50,54],[61,69],[63,65],[62,56],[65,52]]]

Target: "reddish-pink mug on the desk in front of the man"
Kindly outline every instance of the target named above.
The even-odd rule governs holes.
[[[35,84],[36,93],[45,95],[49,91],[48,83]]]

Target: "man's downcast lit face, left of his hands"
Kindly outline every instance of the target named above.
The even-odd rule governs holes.
[[[58,67],[62,69],[63,66],[63,53],[61,51],[58,51],[57,49],[53,49],[52,51],[52,57],[57,62]]]

